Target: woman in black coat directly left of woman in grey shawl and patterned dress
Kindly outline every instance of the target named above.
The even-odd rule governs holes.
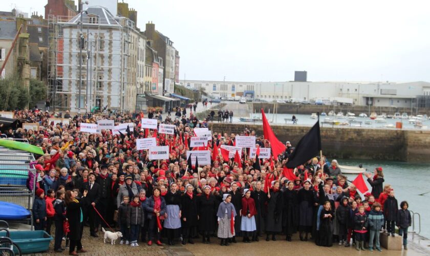
[[[210,234],[217,229],[215,225],[216,215],[218,210],[217,199],[210,192],[210,186],[203,187],[203,194],[197,201],[199,210],[199,231],[203,236],[203,243],[210,243]]]

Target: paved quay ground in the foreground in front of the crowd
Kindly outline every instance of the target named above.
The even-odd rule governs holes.
[[[211,244],[203,244],[200,239],[194,239],[195,244],[186,244],[185,246],[177,243],[176,246],[147,246],[146,243],[139,243],[139,247],[130,247],[126,245],[117,244],[111,245],[110,243],[103,243],[103,233],[99,232],[99,238],[92,238],[89,236],[89,229],[85,227],[82,238],[82,245],[87,253],[80,253],[80,255],[93,256],[93,255],[178,255],[178,256],[210,256],[210,255],[286,255],[286,253],[299,253],[300,255],[331,255],[331,256],[345,256],[345,255],[402,255],[402,256],[424,256],[430,255],[430,243],[427,239],[419,236],[410,236],[410,242],[407,251],[395,251],[382,249],[382,252],[369,250],[357,251],[355,247],[345,248],[333,244],[332,247],[319,247],[313,241],[300,242],[298,235],[293,236],[292,242],[287,242],[284,236],[277,236],[277,241],[266,242],[264,238],[260,238],[260,242],[252,242],[249,244],[242,243],[242,239],[238,239],[238,243],[230,244],[229,246],[220,246],[218,238],[211,238]],[[413,241],[412,241],[413,239]],[[64,242],[62,246],[64,247]],[[45,255],[68,255],[68,250],[63,253],[57,253],[53,250],[53,241],[51,242],[50,249],[46,253],[37,253],[36,256]]]

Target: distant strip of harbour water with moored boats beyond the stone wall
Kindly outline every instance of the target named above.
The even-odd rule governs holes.
[[[296,116],[296,118],[298,119],[297,124],[304,124],[304,125],[312,125],[316,122],[316,119],[311,119],[311,115],[304,115],[304,114],[294,114]],[[277,115],[273,115],[272,114],[267,114],[266,113],[266,117],[267,119],[271,122],[273,120],[272,123],[280,123],[280,124],[285,124],[285,118],[287,119],[291,119],[291,117],[293,116],[293,114],[277,114]],[[251,114],[250,118],[253,117],[258,117],[261,118],[261,114],[259,113],[255,113],[255,114]],[[330,118],[331,120],[338,120],[340,122],[346,122],[348,123],[348,119],[338,119],[336,118],[336,116],[320,116],[319,120],[320,121],[324,121],[325,118]],[[233,118],[234,121],[240,121],[239,118]],[[409,119],[385,119],[386,123],[376,123],[375,120],[371,120],[369,117],[356,117],[355,121],[361,121],[361,126],[362,127],[379,127],[379,128],[385,128],[385,129],[395,129],[393,127],[385,127],[385,125],[388,124],[393,124],[394,126],[396,125],[396,122],[402,122],[403,123],[403,128],[406,129],[415,129],[414,124],[411,124],[408,122]],[[365,121],[371,121],[372,124],[365,124]],[[287,124],[291,124],[290,122],[287,122]],[[427,126],[427,128],[424,128],[426,130],[430,129],[430,120],[425,120],[422,121],[423,126]],[[329,124],[323,124],[323,126],[326,126]],[[358,125],[358,124],[352,124],[351,126],[354,125]],[[335,125],[336,127],[339,126],[349,126],[348,125]]]

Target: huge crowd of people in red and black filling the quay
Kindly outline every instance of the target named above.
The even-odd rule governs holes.
[[[35,229],[51,233],[55,226],[55,251],[64,250],[66,237],[71,255],[85,252],[80,242],[84,226],[92,237],[98,237],[100,227],[118,229],[120,244],[132,247],[139,242],[193,244],[199,237],[206,244],[218,237],[222,246],[239,237],[244,243],[261,237],[276,241],[281,235],[292,241],[298,232],[300,241],[313,240],[318,246],[348,247],[352,242],[357,250],[379,251],[381,230],[394,236],[397,226],[407,248],[408,204],[403,201],[398,208],[394,189],[383,184],[381,167],[365,174],[372,189],[362,195],[336,160],[316,156],[287,169],[294,151],[289,141],[278,156],[250,158],[248,148],[238,161],[226,159],[217,149],[235,145],[236,135],[212,131],[205,147],[212,151],[211,164],[195,166],[186,158],[187,151],[196,150],[189,146],[190,137],[195,136],[193,129],[207,125],[192,114],[183,120],[158,119],[176,125],[173,135],[141,129],[143,113],[69,115],[70,124],[65,125],[49,123],[53,115],[61,114],[15,111],[15,117],[39,123],[39,130],[9,130],[6,136],[27,138],[45,153],[31,163],[37,173],[30,173],[29,188],[35,180]],[[80,123],[99,119],[135,125],[119,135],[110,130],[80,132]],[[245,125],[238,135],[256,136],[256,147],[270,147],[270,141]],[[152,161],[146,150],[137,150],[136,139],[146,137],[169,146],[168,159]]]

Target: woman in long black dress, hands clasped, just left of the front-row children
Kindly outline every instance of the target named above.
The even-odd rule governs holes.
[[[333,210],[331,203],[326,201],[319,216],[319,231],[316,245],[331,247],[333,245]]]

